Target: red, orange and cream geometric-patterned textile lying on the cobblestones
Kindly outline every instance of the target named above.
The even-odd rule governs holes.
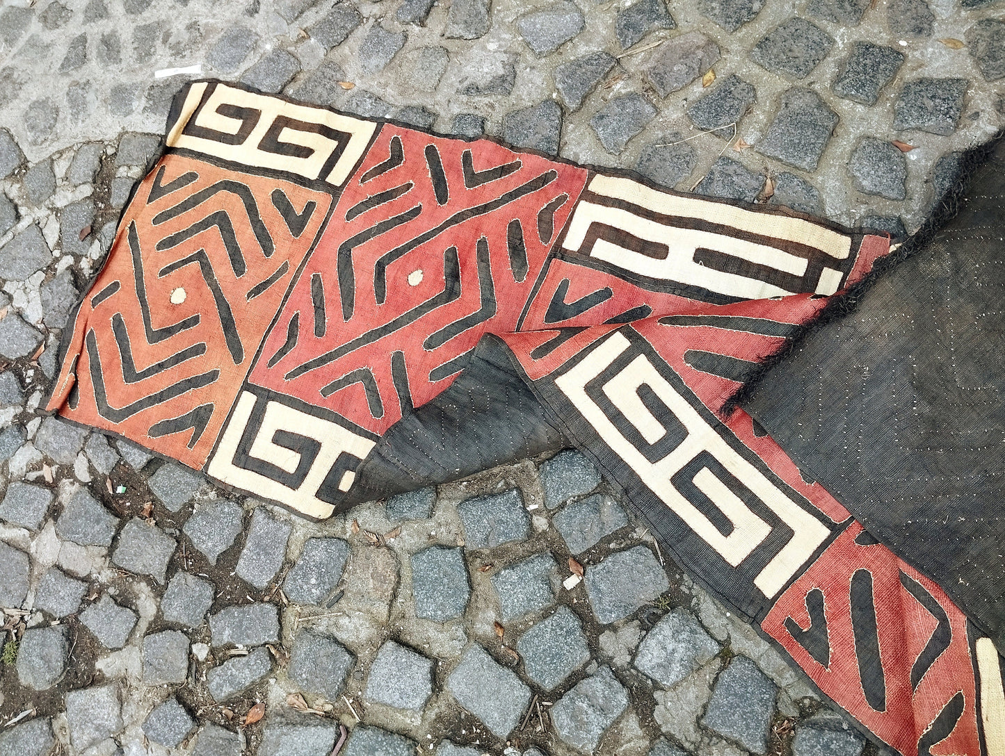
[[[195,82],[71,314],[48,409],[314,518],[573,444],[874,738],[1001,754],[987,625],[722,412],[887,252]]]

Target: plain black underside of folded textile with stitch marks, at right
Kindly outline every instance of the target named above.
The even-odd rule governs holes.
[[[741,405],[1005,649],[1005,147]],[[915,246],[918,246],[916,241]]]

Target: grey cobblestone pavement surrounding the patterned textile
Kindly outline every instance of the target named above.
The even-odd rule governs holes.
[[[1001,125],[1001,8],[5,3],[0,756],[874,753],[573,452],[314,524],[37,408],[187,76],[900,235]]]

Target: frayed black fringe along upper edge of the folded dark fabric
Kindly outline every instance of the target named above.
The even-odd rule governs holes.
[[[1005,140],[1005,131],[999,132],[983,145],[967,150],[960,157],[953,183],[939,198],[936,203],[937,207],[922,224],[922,227],[914,235],[908,237],[895,250],[876,260],[872,270],[863,276],[862,280],[843,293],[832,296],[830,301],[814,317],[800,325],[777,351],[764,357],[757,367],[750,371],[747,382],[723,405],[722,416],[726,418],[732,416],[757,392],[765,376],[778,363],[796,352],[811,333],[827,325],[831,320],[837,320],[854,312],[858,308],[862,296],[875,286],[880,278],[909,257],[913,257],[925,249],[939,232],[960,213],[971,177],[977,169],[987,163],[991,154],[1003,140]]]

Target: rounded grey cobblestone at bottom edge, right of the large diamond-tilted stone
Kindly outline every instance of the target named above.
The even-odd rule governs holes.
[[[580,681],[551,709],[552,725],[564,742],[592,753],[601,736],[628,708],[628,692],[607,667]]]

